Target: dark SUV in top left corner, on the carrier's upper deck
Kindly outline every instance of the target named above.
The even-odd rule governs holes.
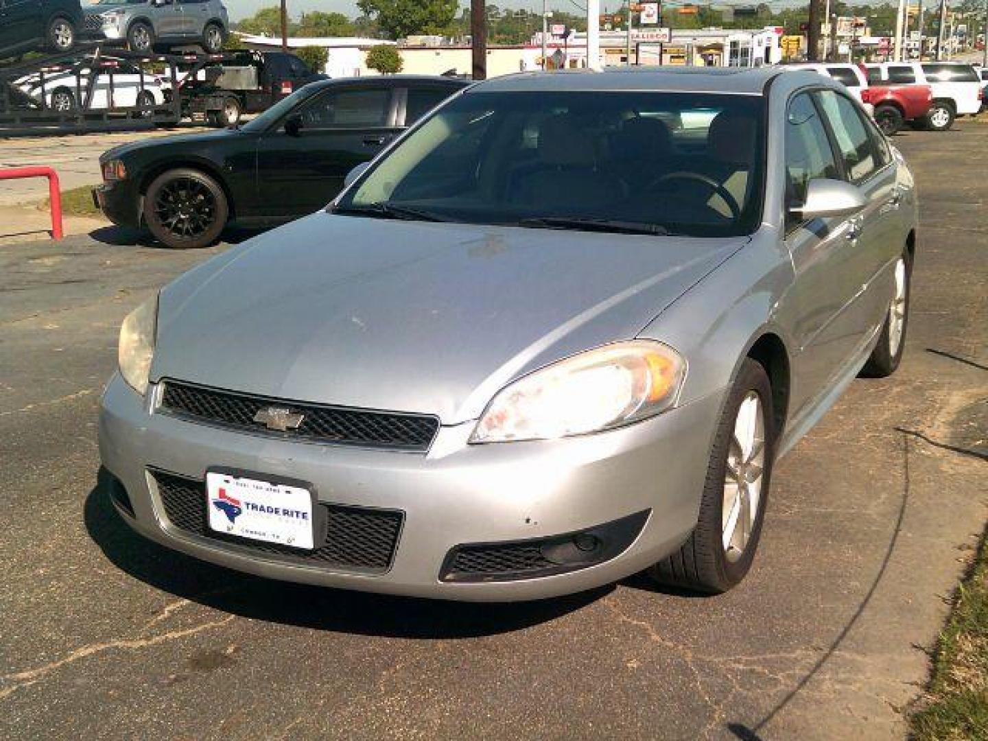
[[[79,0],[0,0],[0,58],[71,51],[83,27]]]

